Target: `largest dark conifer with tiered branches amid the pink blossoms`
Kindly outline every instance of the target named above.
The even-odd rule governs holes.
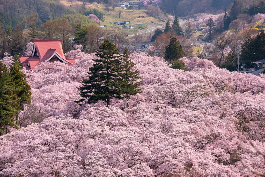
[[[95,64],[89,69],[89,79],[83,79],[80,90],[81,99],[77,103],[86,101],[87,103],[97,103],[106,101],[110,105],[111,98],[121,99],[122,93],[122,59],[116,45],[104,39],[104,42],[96,51],[98,58],[93,59]],[[114,56],[116,54],[116,56]]]

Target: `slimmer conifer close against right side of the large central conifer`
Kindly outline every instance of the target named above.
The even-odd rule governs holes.
[[[122,67],[124,69],[124,73],[122,75],[123,82],[121,85],[125,108],[129,107],[129,99],[131,98],[131,95],[136,95],[142,90],[142,78],[140,77],[140,72],[132,71],[135,65],[136,63],[130,59],[127,48],[125,48],[122,54]]]

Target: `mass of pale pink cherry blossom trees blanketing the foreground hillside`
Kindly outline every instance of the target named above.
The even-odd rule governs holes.
[[[142,93],[79,106],[95,54],[28,74],[32,102],[20,130],[0,137],[0,176],[255,176],[264,174],[265,76],[183,57],[187,71],[132,53]],[[3,60],[8,64],[12,57]],[[9,62],[10,63],[10,62]]]

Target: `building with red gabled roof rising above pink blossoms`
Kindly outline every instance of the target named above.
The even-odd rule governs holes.
[[[65,64],[72,64],[75,59],[65,58],[61,44],[62,40],[33,40],[34,46],[30,56],[20,56],[20,63],[24,64],[27,70],[34,70],[40,63],[60,61]]]

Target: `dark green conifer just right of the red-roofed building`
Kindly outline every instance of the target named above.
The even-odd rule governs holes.
[[[75,38],[73,39],[74,44],[82,45],[82,51],[84,51],[86,47],[86,35],[88,33],[87,26],[85,25],[82,27],[81,23],[78,23],[75,29],[76,33],[74,33]]]

